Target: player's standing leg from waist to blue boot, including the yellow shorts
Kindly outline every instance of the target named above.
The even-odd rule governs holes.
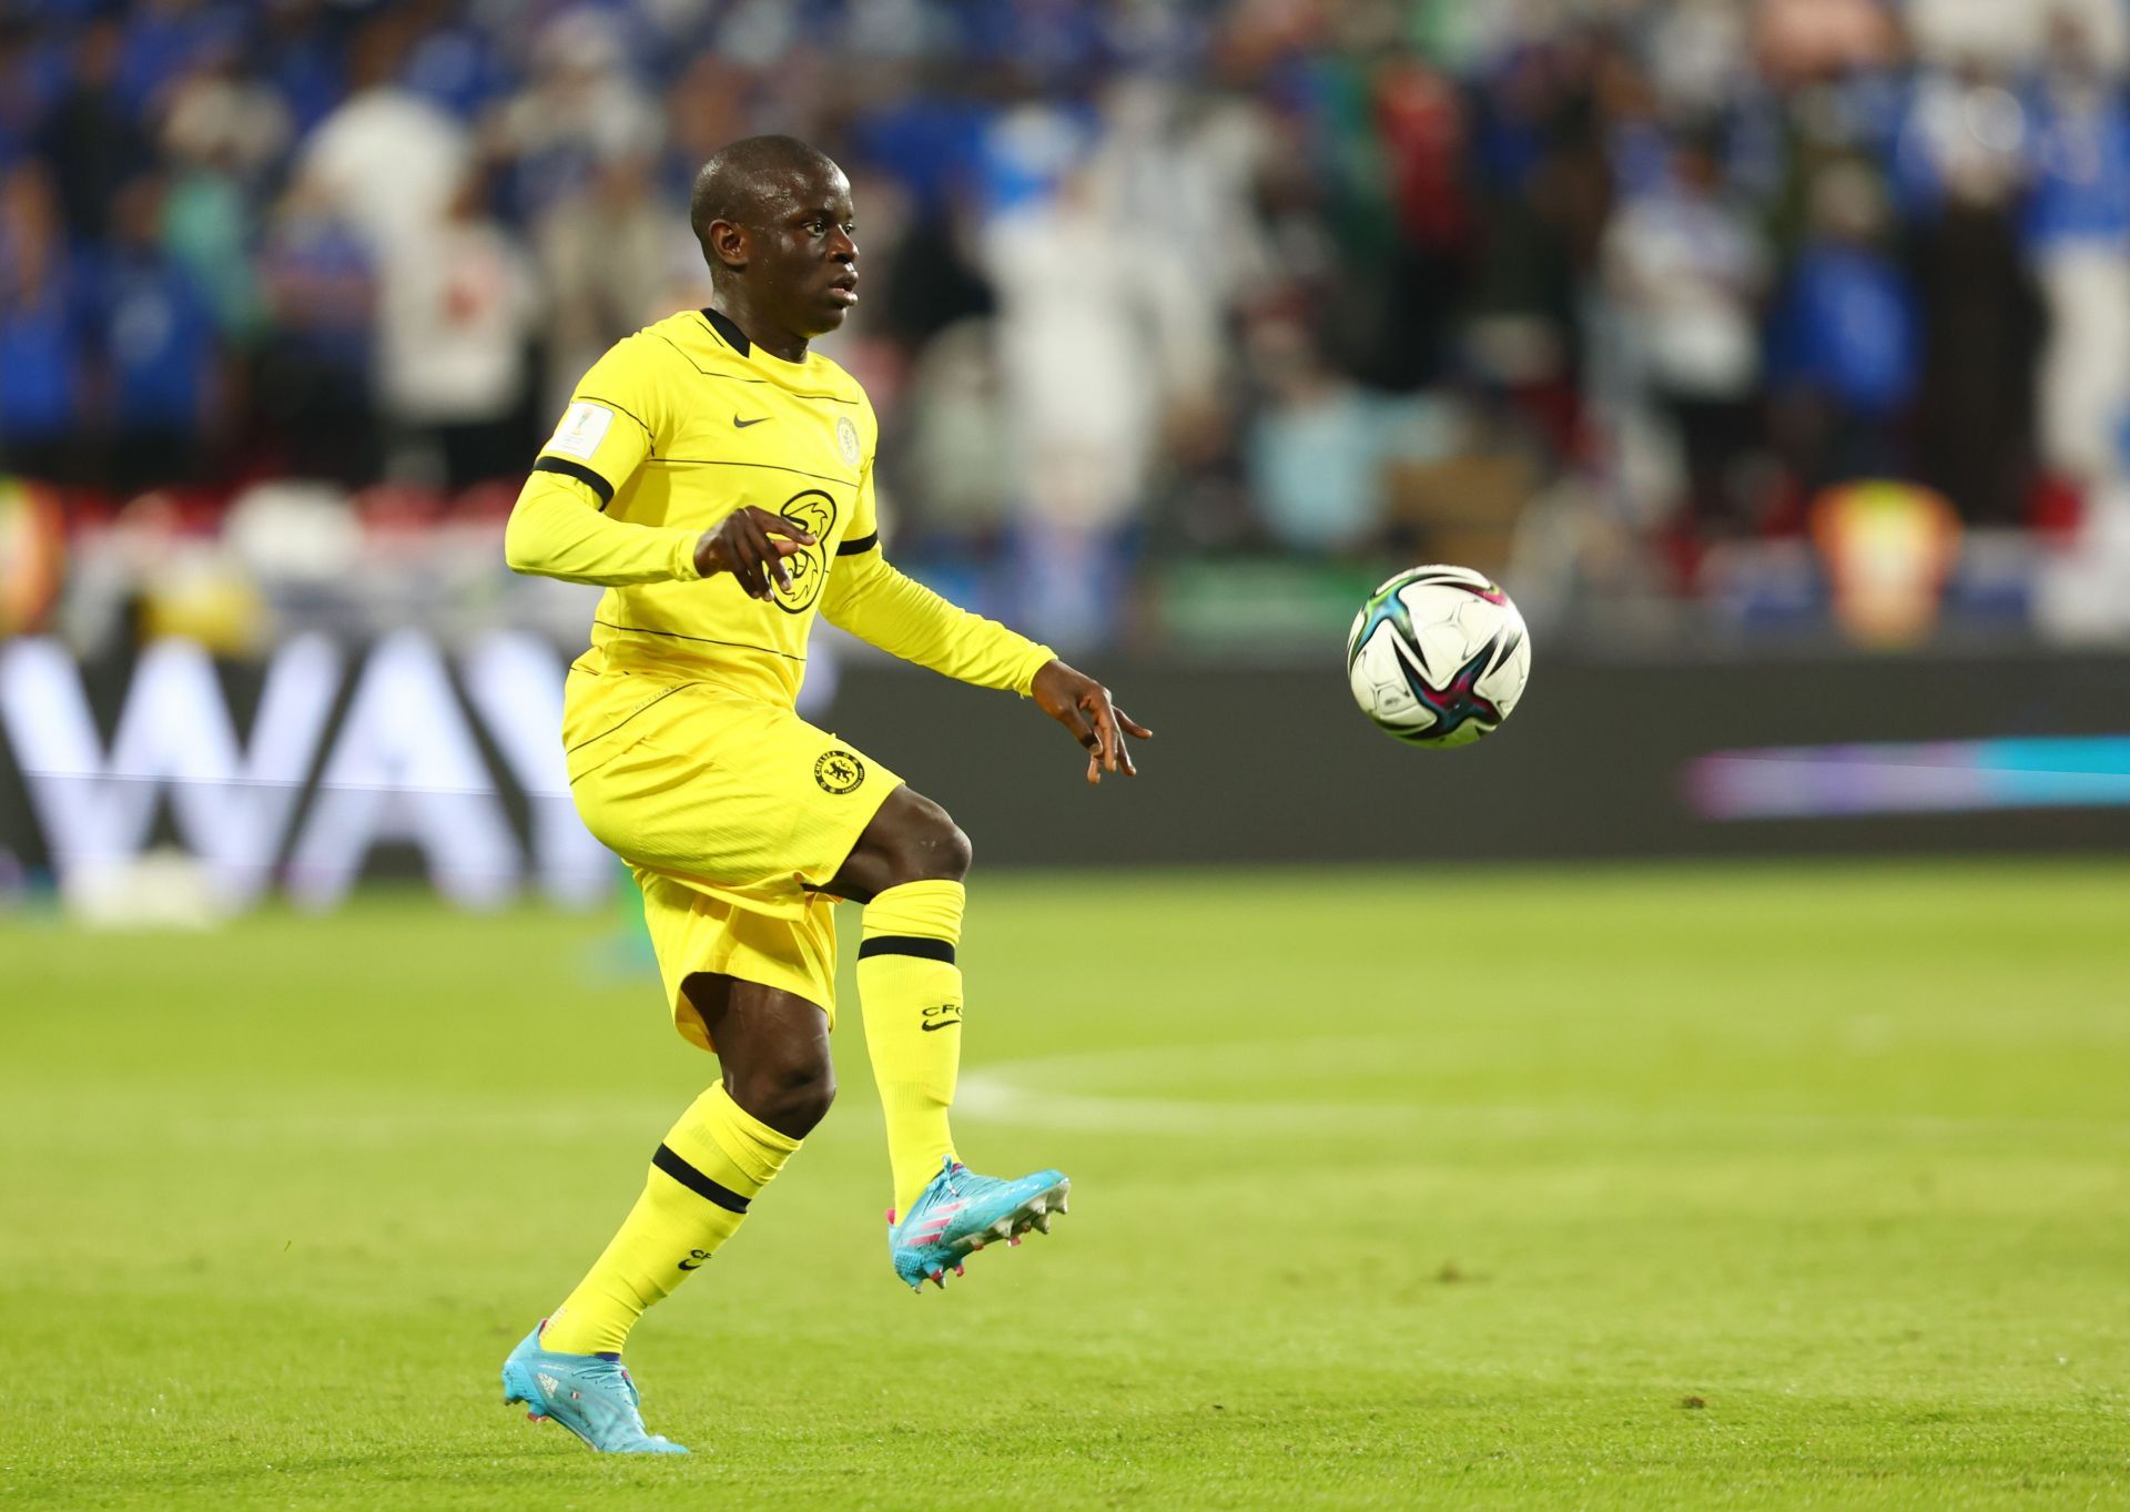
[[[635,1320],[733,1237],[833,1097],[833,907],[824,880],[899,786],[790,709],[609,673],[564,692],[571,794],[630,862],[673,1024],[722,1061],[658,1146],[584,1282],[505,1363],[507,1397],[596,1448],[671,1450],[643,1431],[620,1350]]]

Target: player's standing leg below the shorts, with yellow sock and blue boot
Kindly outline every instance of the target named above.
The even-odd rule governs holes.
[[[592,1269],[503,1367],[509,1399],[601,1450],[679,1450],[643,1429],[620,1367],[628,1331],[724,1248],[835,1099],[820,1005],[709,973],[684,990],[718,1046],[722,1075],[667,1131],[643,1193]]]

